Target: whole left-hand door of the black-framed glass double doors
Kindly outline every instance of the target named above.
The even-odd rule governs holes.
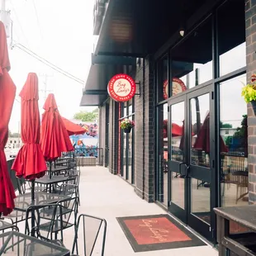
[[[168,210],[187,223],[187,151],[186,145],[186,97],[177,97],[168,107],[170,132],[168,141]]]

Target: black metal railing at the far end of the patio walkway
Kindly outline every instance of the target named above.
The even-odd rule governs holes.
[[[74,157],[79,166],[101,165],[103,166],[102,148],[82,148],[74,149]]]

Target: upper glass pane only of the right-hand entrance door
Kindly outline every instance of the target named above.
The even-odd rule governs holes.
[[[209,93],[190,100],[191,158],[190,164],[210,167]]]

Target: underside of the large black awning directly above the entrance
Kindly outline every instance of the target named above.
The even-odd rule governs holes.
[[[203,6],[216,0],[109,0],[96,55],[145,57],[178,33]]]

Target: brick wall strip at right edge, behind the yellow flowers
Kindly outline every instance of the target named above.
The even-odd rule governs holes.
[[[247,80],[256,73],[256,1],[245,0]],[[256,116],[248,104],[249,203],[256,202]]]

